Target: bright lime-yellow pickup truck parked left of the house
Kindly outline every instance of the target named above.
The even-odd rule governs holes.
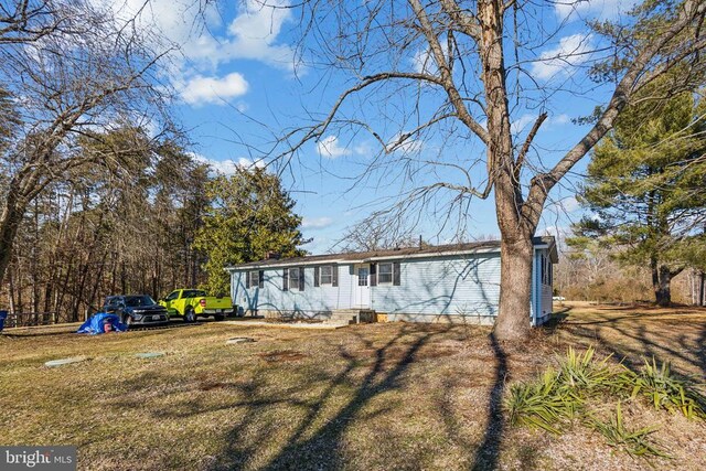
[[[194,322],[196,318],[213,315],[222,321],[233,313],[233,302],[229,297],[206,296],[200,289],[178,289],[159,301],[167,308],[170,315],[181,315],[184,322]]]

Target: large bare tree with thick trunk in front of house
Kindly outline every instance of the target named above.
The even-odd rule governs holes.
[[[411,182],[402,192],[407,202],[442,195],[462,205],[472,197],[494,197],[502,238],[495,323],[501,340],[523,339],[528,332],[532,238],[552,189],[645,85],[676,67],[686,71],[688,82],[698,76],[689,71],[703,66],[705,1],[645,1],[619,24],[592,23],[595,45],[587,34],[547,56],[543,51],[557,42],[567,23],[558,19],[556,28],[544,25],[547,15],[554,18],[555,3],[304,2],[302,46],[311,45],[315,64],[343,71],[350,86],[327,114],[312,111],[311,126],[287,130],[278,140],[284,150],[272,152],[289,162],[308,141],[327,142],[338,131],[367,132],[382,152],[366,167],[363,180],[377,172],[385,182]],[[281,2],[270,7],[281,8]],[[582,79],[569,75],[558,85],[542,85],[533,67],[537,63],[548,63],[554,71],[580,63]],[[338,75],[330,78],[340,83]],[[683,85],[672,83],[665,96]],[[545,162],[534,148],[535,138],[547,109],[569,94],[608,98],[588,120],[590,129],[557,159]],[[534,110],[535,118],[521,132],[517,118],[523,110]],[[434,132],[450,151],[441,150],[435,159],[413,157],[420,156],[415,143]],[[453,152],[463,147],[464,154]],[[453,178],[448,176],[451,172]],[[429,182],[430,178],[436,180]]]

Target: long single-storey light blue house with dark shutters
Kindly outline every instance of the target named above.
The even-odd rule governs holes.
[[[552,313],[554,237],[534,238],[532,323]],[[500,298],[500,242],[268,259],[226,268],[231,296],[266,317],[491,324]]]

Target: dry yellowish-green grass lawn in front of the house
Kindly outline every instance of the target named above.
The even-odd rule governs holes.
[[[336,331],[193,327],[81,336],[0,335],[0,443],[75,445],[79,469],[650,469],[576,427],[512,428],[510,384],[567,345],[655,354],[704,381],[706,312],[578,307],[522,345],[490,330],[410,323]],[[257,342],[225,345],[233,336]],[[165,356],[139,360],[139,352]],[[56,368],[66,356],[92,360]],[[633,409],[672,459],[704,469],[706,428]]]

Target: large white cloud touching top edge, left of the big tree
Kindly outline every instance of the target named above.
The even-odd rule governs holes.
[[[237,2],[237,13],[227,23],[223,22],[216,2],[89,1],[113,11],[126,28],[137,26],[150,38],[156,51],[174,51],[168,55],[164,65],[175,88],[189,104],[222,103],[217,96],[232,98],[246,93],[247,83],[242,75],[242,81],[233,74],[222,78],[213,76],[215,71],[236,60],[295,69],[296,51],[279,39],[282,26],[292,21],[290,0]],[[185,90],[184,84],[197,88]]]

